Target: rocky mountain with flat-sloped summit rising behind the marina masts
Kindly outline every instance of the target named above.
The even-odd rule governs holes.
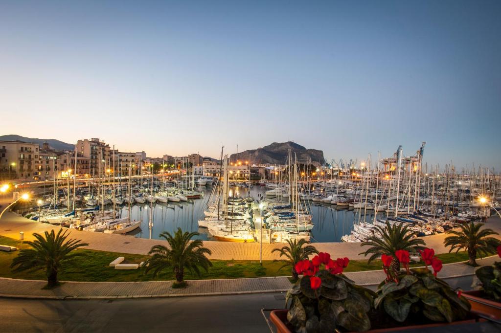
[[[250,155],[251,163],[285,164],[287,162],[289,149],[292,149],[293,158],[294,153],[296,153],[298,162],[305,163],[308,158],[311,158],[313,164],[325,164],[323,151],[317,149],[306,149],[305,147],[291,141],[282,143],[274,142],[271,145],[262,148],[239,152],[238,159],[246,161],[249,159]],[[236,161],[236,154],[231,154],[229,159],[232,162]]]

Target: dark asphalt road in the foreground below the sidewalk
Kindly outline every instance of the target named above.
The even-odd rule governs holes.
[[[447,279],[468,290],[472,277]],[[284,294],[114,300],[0,298],[0,332],[269,332],[262,308]]]

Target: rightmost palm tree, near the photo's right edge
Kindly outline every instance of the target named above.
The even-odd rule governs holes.
[[[492,229],[480,229],[484,223],[467,223],[458,224],[455,226],[460,230],[449,230],[447,234],[454,235],[445,238],[443,244],[450,246],[449,253],[452,250],[466,250],[468,252],[468,263],[476,266],[476,254],[480,256],[487,255],[489,252],[495,252],[496,247],[501,244],[497,238],[487,237],[497,235],[498,233]]]

